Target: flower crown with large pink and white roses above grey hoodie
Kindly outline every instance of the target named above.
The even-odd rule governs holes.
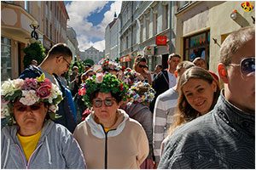
[[[14,119],[14,104],[16,99],[20,99],[23,105],[34,105],[39,102],[49,103],[49,118],[54,120],[55,111],[62,98],[61,90],[48,78],[45,79],[44,73],[35,79],[26,78],[8,80],[3,82],[1,87],[1,117],[6,117],[8,124],[12,125]]]

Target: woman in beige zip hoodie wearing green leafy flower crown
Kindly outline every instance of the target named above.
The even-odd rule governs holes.
[[[73,135],[88,168],[139,169],[148,156],[148,139],[139,122],[119,110],[128,87],[112,74],[96,74],[79,93],[92,113]]]

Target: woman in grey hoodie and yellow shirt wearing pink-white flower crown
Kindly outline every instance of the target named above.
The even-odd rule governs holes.
[[[55,119],[61,91],[44,74],[2,84],[1,168],[86,168],[72,134]]]

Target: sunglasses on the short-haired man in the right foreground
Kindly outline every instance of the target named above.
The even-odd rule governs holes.
[[[255,57],[241,59],[240,64],[228,64],[233,66],[240,66],[241,74],[244,77],[250,77],[255,75]]]

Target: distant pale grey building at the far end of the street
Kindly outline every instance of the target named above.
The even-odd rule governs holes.
[[[84,52],[80,52],[80,59],[92,59],[95,64],[97,64],[105,56],[104,51],[101,52],[94,47],[85,49]]]

